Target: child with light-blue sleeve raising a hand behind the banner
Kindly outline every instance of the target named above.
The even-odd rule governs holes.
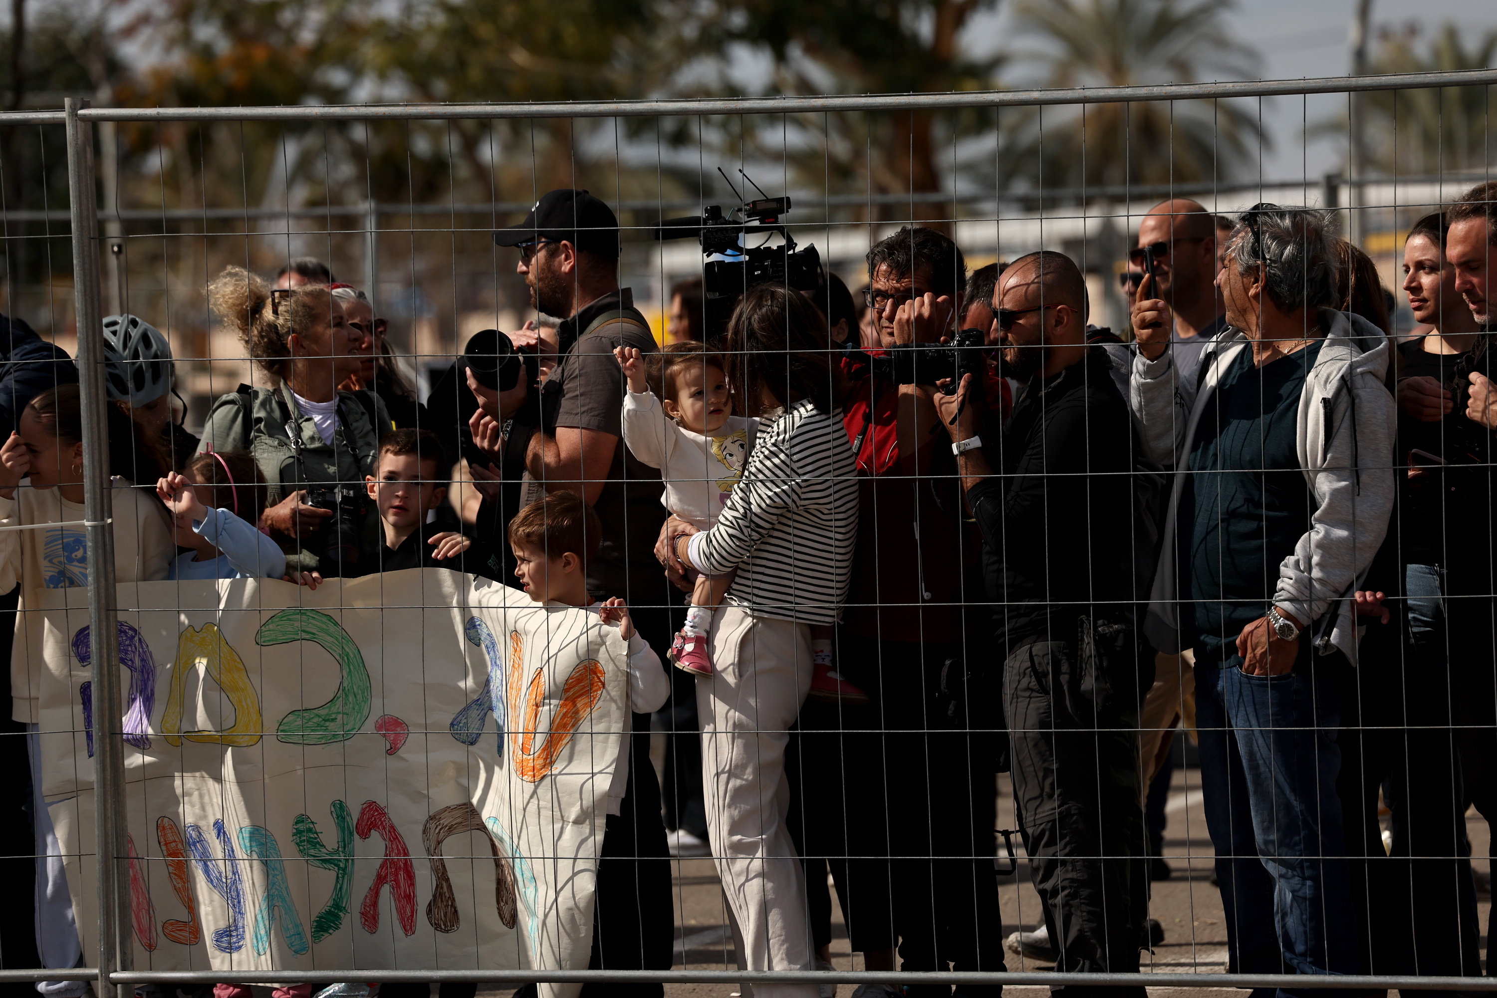
[[[168,474],[156,494],[175,521],[172,579],[280,579],[286,554],[254,528],[265,509],[265,476],[246,450],[205,450],[184,474]],[[204,504],[202,500],[208,500]]]

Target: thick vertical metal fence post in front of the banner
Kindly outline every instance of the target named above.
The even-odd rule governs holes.
[[[94,851],[99,871],[99,995],[109,974],[130,970],[121,931],[129,904],[124,824],[124,739],[120,708],[120,636],[114,588],[103,314],[99,310],[99,217],[94,203],[93,126],[78,120],[88,102],[69,97],[67,205],[73,235],[73,301],[78,313],[78,380],[84,429],[84,518],[88,542],[88,651],[93,661]],[[127,988],[127,985],[121,985]],[[123,998],[123,991],[120,992]]]

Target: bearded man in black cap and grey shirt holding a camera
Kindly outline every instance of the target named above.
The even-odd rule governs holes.
[[[618,287],[618,218],[585,190],[552,190],[522,223],[496,232],[494,242],[519,250],[516,272],[531,304],[563,322],[557,365],[539,386],[525,371],[512,388],[500,388],[507,377],[491,388],[485,373],[469,365],[467,386],[479,402],[473,443],[497,468],[473,467],[473,477],[521,477],[521,506],[543,492],[579,494],[602,525],[587,564],[588,593],[624,597],[641,636],[663,655],[671,640],[665,607],[674,601],[653,554],[665,521],[663,486],[660,473],[624,447],[626,386],[614,359],[615,347],[650,353],[656,346],[633,296]],[[533,335],[516,337],[513,346],[533,349]],[[633,715],[632,724],[629,784],[621,812],[608,817],[597,871],[590,967],[668,970],[674,917],[660,787],[650,765],[650,718]],[[659,985],[645,989],[662,994]]]

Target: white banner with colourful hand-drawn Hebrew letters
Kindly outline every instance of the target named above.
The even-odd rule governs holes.
[[[45,663],[43,793],[88,953],[87,594],[48,596],[18,627]],[[138,970],[587,967],[627,723],[617,627],[442,569],[118,601]]]

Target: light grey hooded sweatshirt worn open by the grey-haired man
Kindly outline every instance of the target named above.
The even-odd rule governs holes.
[[[1383,385],[1388,337],[1361,316],[1329,308],[1320,310],[1320,325],[1329,332],[1305,377],[1296,419],[1299,467],[1316,507],[1310,530],[1278,566],[1274,604],[1311,621],[1307,630],[1316,651],[1338,649],[1355,664],[1361,634],[1352,596],[1388,533],[1395,492],[1397,407]],[[1190,643],[1180,633],[1175,579],[1175,518],[1190,446],[1217,383],[1238,355],[1250,349],[1241,331],[1223,331],[1201,358],[1199,388],[1180,383],[1169,350],[1157,361],[1133,356],[1129,405],[1141,449],[1150,461],[1175,473],[1144,619],[1144,633],[1165,652],[1180,652]]]

